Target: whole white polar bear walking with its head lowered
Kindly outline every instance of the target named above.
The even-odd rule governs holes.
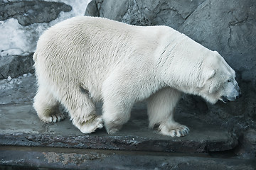
[[[174,120],[181,93],[206,101],[240,96],[234,70],[218,52],[167,26],[130,26],[79,16],[49,28],[33,55],[38,91],[33,107],[46,123],[64,118],[83,133],[113,134],[127,123],[132,106],[147,102],[149,128],[171,137],[188,134]],[[102,115],[95,102],[103,101]]]

